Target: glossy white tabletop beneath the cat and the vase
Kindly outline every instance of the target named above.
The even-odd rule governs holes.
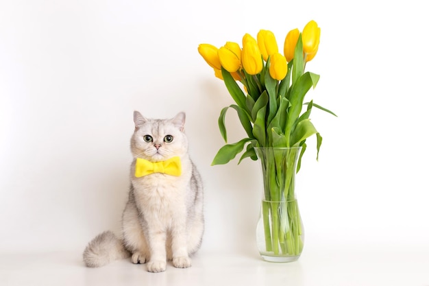
[[[0,254],[0,285],[429,286],[428,246],[306,246],[299,261],[269,263],[251,248],[200,251],[193,266],[153,274],[129,259],[84,267],[80,251]]]

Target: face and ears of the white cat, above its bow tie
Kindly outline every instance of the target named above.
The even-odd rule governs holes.
[[[155,162],[186,154],[188,140],[184,134],[184,120],[183,112],[173,119],[146,119],[135,111],[136,128],[131,139],[134,158]]]

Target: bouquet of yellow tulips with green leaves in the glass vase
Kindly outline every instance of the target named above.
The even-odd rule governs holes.
[[[236,110],[247,134],[241,141],[221,147],[212,165],[228,163],[238,153],[243,152],[246,145],[238,163],[247,157],[257,160],[256,147],[301,147],[296,169],[299,171],[301,158],[306,150],[306,139],[312,135],[317,137],[319,156],[322,137],[310,121],[310,113],[314,107],[334,115],[330,110],[312,101],[304,103],[306,93],[311,87],[314,88],[319,80],[319,75],[305,71],[306,63],[316,56],[319,38],[320,28],[315,21],[310,21],[302,32],[293,29],[286,35],[284,54],[279,53],[274,34],[265,29],[258,32],[256,39],[245,34],[242,47],[233,42],[227,42],[220,48],[210,44],[199,45],[199,54],[214,69],[215,76],[225,82],[235,102],[223,108],[219,117],[219,130],[225,143],[228,143],[225,128],[225,114],[228,108]],[[306,110],[303,111],[305,105]],[[273,162],[283,164],[282,158],[273,158]],[[274,168],[280,169],[282,167],[280,165],[275,165]],[[294,196],[291,189],[293,186],[291,184],[280,186],[276,174],[284,176],[281,171],[275,171],[269,175],[271,178],[265,178],[265,185],[271,185],[271,189],[265,191],[265,199],[271,201],[294,199],[291,198]],[[273,215],[275,213],[273,211]],[[290,213],[289,216],[293,217],[293,214]],[[268,231],[268,235],[271,236],[273,242],[271,244],[278,244],[272,241],[272,237],[277,234],[272,232],[270,234]],[[290,245],[294,243],[296,248],[299,248],[299,243],[289,241]]]

